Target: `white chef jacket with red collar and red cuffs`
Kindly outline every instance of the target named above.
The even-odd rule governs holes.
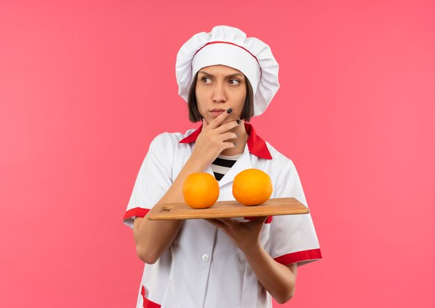
[[[293,162],[258,137],[249,123],[245,128],[249,134],[245,151],[220,180],[218,200],[234,200],[234,176],[256,168],[270,176],[271,198],[294,197],[306,205]],[[201,129],[164,132],[151,142],[124,215],[126,225],[133,228],[134,219],[144,217],[163,197],[190,157]],[[206,172],[213,175],[211,166]],[[260,239],[281,264],[302,265],[322,258],[310,214],[269,217]],[[203,219],[190,219],[158,261],[145,265],[136,307],[266,308],[272,307],[272,300],[243,252],[222,230]]]

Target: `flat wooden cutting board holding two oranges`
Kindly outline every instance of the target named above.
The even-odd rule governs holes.
[[[149,210],[150,220],[211,219],[308,214],[310,211],[295,198],[271,198],[261,205],[246,206],[237,201],[217,201],[207,209],[192,209],[186,203],[165,203]]]

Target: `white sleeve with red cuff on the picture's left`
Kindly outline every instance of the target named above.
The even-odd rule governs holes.
[[[172,153],[165,134],[154,138],[140,166],[123,219],[130,228],[133,228],[134,219],[145,217],[172,185]]]

